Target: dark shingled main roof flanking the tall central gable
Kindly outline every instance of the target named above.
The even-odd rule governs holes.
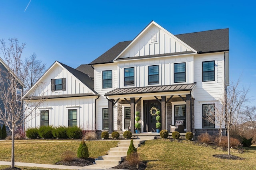
[[[198,51],[198,53],[214,53],[220,51],[229,51],[229,35],[228,28],[226,29],[215,29],[210,31],[185,33],[175,35],[184,43]],[[125,47],[129,45],[132,41],[124,41],[117,43],[102,54],[100,57],[95,59],[91,64],[104,64],[113,63],[113,60],[121,53]],[[168,54],[171,55],[171,54]],[[160,55],[163,56],[163,55]],[[157,57],[157,56],[140,56],[141,58]],[[128,59],[128,58],[126,58]],[[132,59],[135,59],[134,57]]]

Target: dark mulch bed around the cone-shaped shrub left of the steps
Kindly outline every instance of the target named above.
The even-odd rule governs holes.
[[[93,162],[95,162],[94,158],[87,158],[87,159],[82,159],[82,158],[74,158],[71,161],[65,161],[62,160],[60,162],[57,162],[56,165],[67,165],[67,166],[88,166],[92,165]]]

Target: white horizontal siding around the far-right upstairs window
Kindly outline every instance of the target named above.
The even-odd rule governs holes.
[[[202,82],[202,62],[204,61],[215,61],[215,81],[213,82]],[[195,129],[201,129],[202,104],[216,104],[218,106],[218,101],[224,98],[224,52],[194,57],[194,80],[196,82],[196,87],[193,90],[195,98]]]

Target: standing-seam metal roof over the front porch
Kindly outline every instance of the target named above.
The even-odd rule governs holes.
[[[107,92],[105,96],[115,96],[124,94],[144,94],[144,93],[160,93],[160,92],[179,92],[190,91],[196,86],[196,83],[177,84],[165,86],[149,86],[149,87],[133,87],[133,88],[117,88]]]

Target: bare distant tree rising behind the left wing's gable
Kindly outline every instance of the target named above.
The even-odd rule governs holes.
[[[26,72],[28,76],[25,78],[27,89],[30,89],[46,70],[46,64],[36,59],[36,57],[36,53],[33,53],[29,58],[26,58],[23,63],[27,68]]]

